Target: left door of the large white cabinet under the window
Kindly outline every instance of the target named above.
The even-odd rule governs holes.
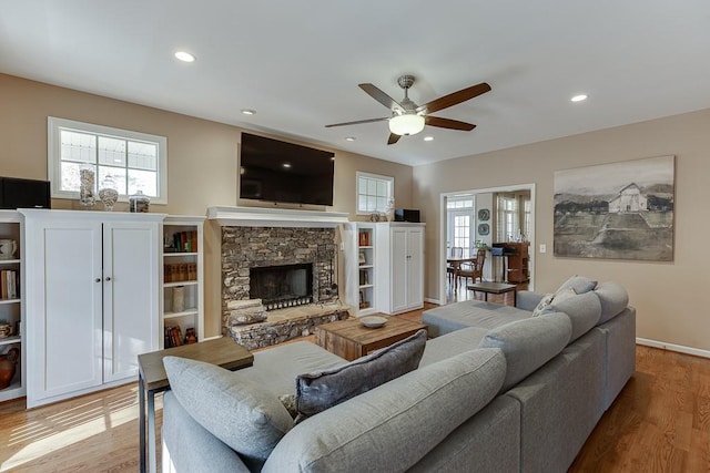
[[[33,407],[102,383],[101,224],[39,222],[27,249],[28,407]]]

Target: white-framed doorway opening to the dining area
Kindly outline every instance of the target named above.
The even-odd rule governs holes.
[[[526,197],[528,196],[528,197]],[[454,202],[467,199],[473,207],[459,213],[453,208]],[[517,204],[511,203],[517,199]],[[458,204],[457,204],[458,205]],[[528,289],[535,285],[535,184],[519,184],[500,187],[471,189],[467,192],[444,193],[440,195],[440,236],[439,248],[439,300],[446,304],[452,300],[449,295],[450,278],[447,275],[447,257],[454,246],[462,246],[473,255],[476,246],[485,244],[488,248],[495,243],[515,241],[523,239],[529,241],[529,281]],[[499,208],[498,208],[499,207]],[[465,222],[466,216],[468,220]],[[457,240],[458,235],[466,232],[459,228],[468,228],[467,240]],[[462,245],[455,245],[462,243]],[[466,245],[464,245],[464,243]],[[501,261],[493,258],[488,251],[484,266],[485,280],[504,280]],[[454,281],[453,284],[458,284]],[[454,300],[470,299],[468,291],[459,288]]]

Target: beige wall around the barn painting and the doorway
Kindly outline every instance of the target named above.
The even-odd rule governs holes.
[[[426,227],[426,296],[439,299],[439,196],[442,193],[516,184],[536,185],[536,290],[552,291],[574,274],[616,280],[637,308],[637,336],[710,350],[704,296],[710,267],[710,110],[486,153],[414,171],[415,207]],[[552,255],[554,172],[651,156],[676,156],[674,259],[640,263],[559,258]]]

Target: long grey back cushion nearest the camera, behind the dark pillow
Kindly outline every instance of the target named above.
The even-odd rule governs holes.
[[[414,370],[301,422],[262,472],[406,471],[486,407],[505,372],[496,349]]]

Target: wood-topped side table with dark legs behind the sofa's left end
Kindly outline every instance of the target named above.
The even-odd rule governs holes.
[[[148,466],[155,472],[155,394],[168,391],[170,381],[163,367],[164,357],[182,357],[191,360],[204,361],[234,371],[251,367],[254,356],[229,337],[203,341],[201,343],[183,345],[138,356],[139,376],[139,429],[141,453],[141,473],[145,473],[145,438],[148,435]],[[148,423],[145,422],[145,398],[148,394]],[[146,432],[148,431],[148,432]]]

